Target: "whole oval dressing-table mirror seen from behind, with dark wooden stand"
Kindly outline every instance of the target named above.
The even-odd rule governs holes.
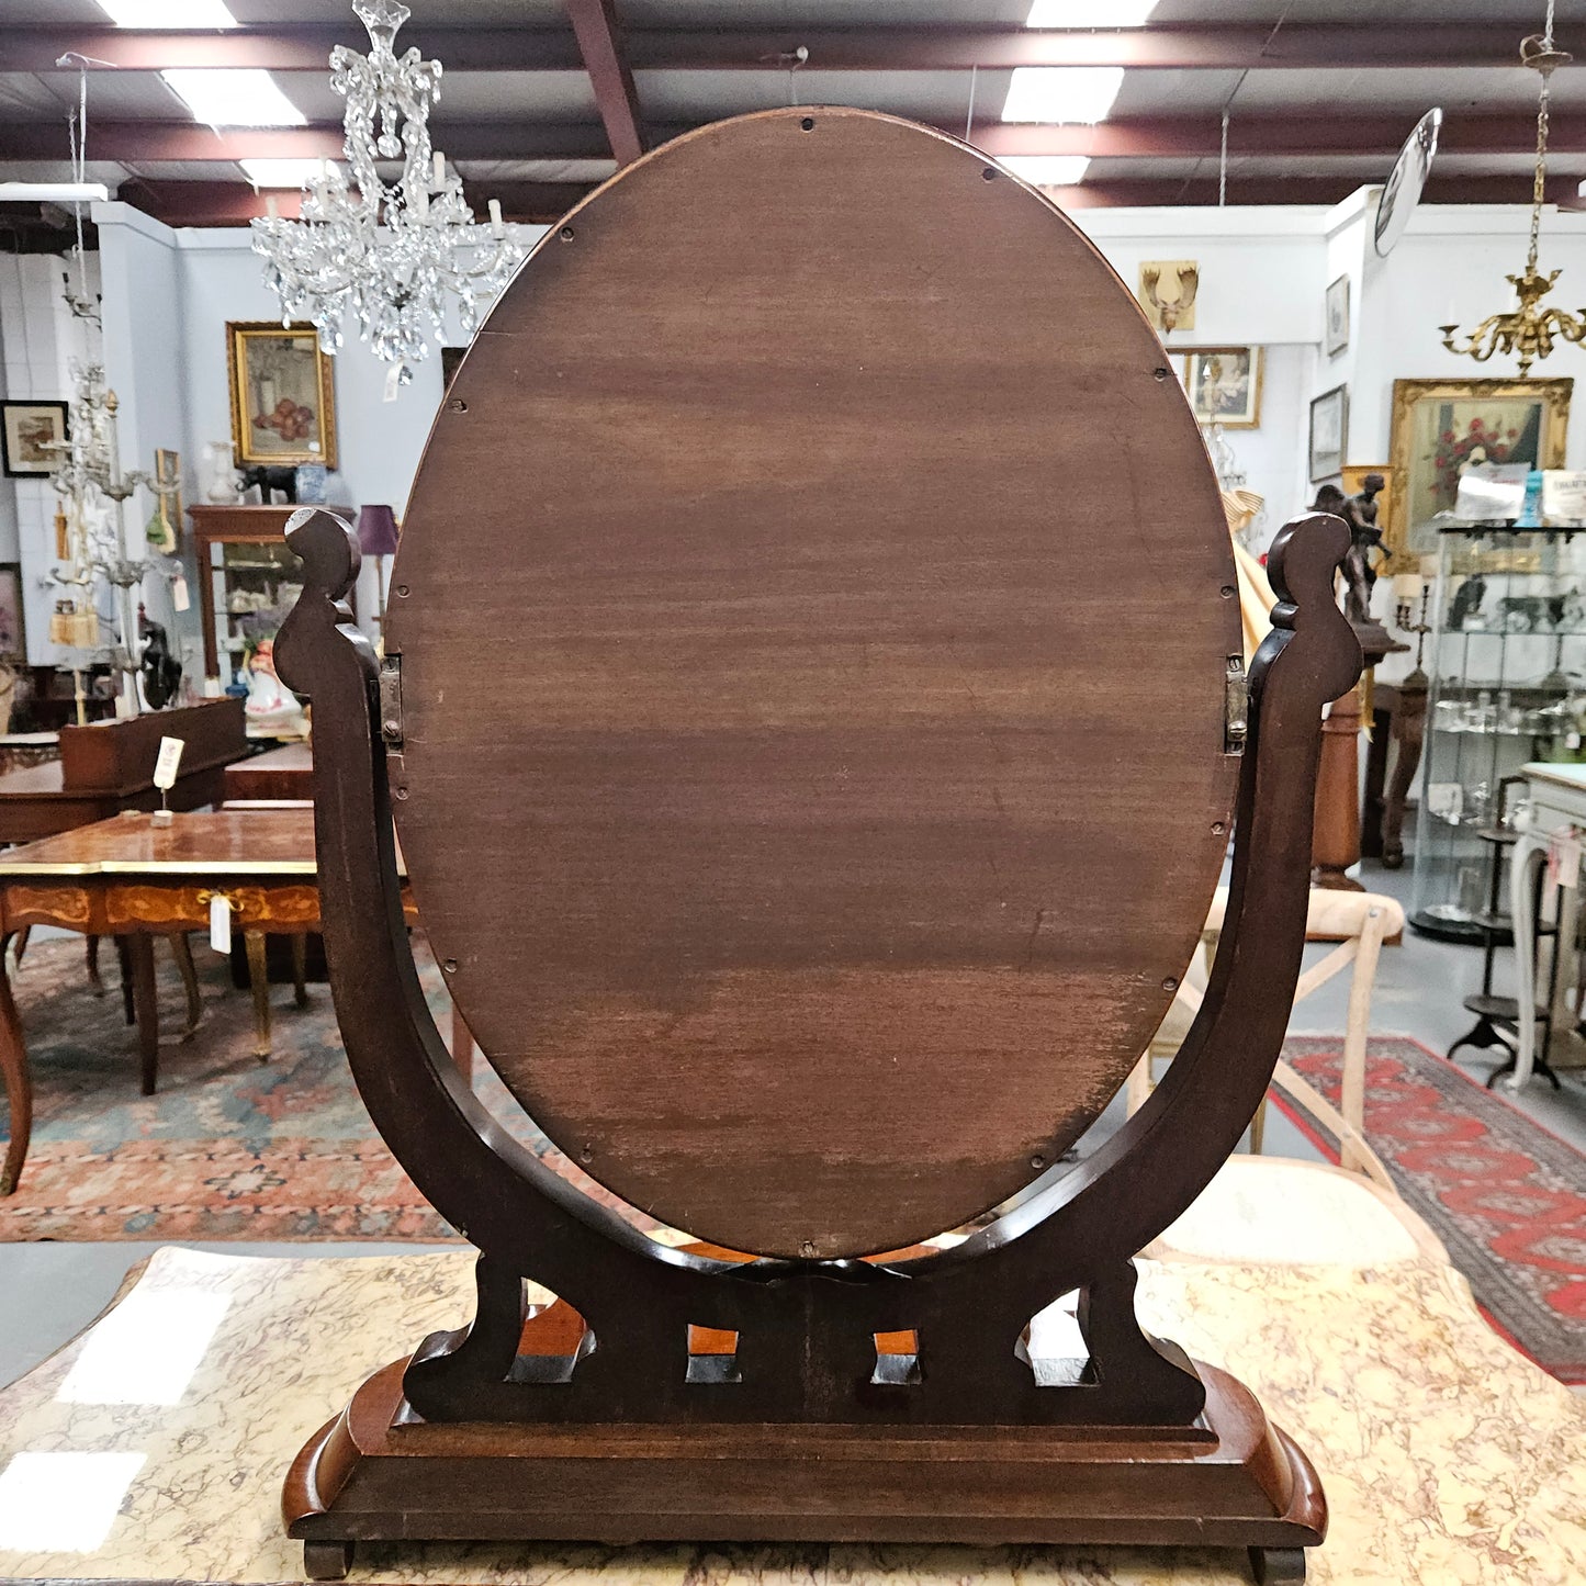
[[[1080,232],[895,117],[701,128],[547,233],[474,339],[384,657],[351,527],[289,539],[347,1058],[481,1251],[473,1321],[287,1472],[309,1573],[355,1538],[752,1537],[1242,1546],[1301,1580],[1315,1470],[1145,1334],[1132,1258],[1281,1047],[1321,707],[1361,665],[1348,531],[1278,534],[1247,693],[1205,447]],[[598,1193],[447,1053],[393,812],[484,1059]],[[1071,1170],[1231,825],[1194,1028]],[[1082,1353],[1031,1362],[1072,1291]]]

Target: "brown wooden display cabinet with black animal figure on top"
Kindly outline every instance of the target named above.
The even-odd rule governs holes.
[[[203,612],[203,669],[230,684],[251,638],[273,638],[285,620],[301,580],[301,565],[287,549],[287,519],[295,506],[193,506],[198,550],[198,601]],[[328,511],[351,517],[346,506]]]

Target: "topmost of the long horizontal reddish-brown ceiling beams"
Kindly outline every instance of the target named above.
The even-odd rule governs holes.
[[[609,0],[574,0],[609,13]],[[534,27],[423,27],[403,40],[447,71],[579,71],[584,57],[571,30]],[[263,67],[325,71],[331,46],[360,52],[357,27],[282,24],[225,32],[160,32],[133,27],[6,27],[0,71],[54,71],[67,51],[95,70],[157,71],[163,67]],[[1269,22],[1194,24],[1067,32],[1026,27],[623,29],[633,71],[782,71],[804,46],[810,71],[942,71],[982,67],[1132,67],[1243,71],[1324,67],[1507,67],[1516,62],[1515,24]]]

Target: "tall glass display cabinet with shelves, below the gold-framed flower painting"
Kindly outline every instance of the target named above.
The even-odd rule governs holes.
[[[1586,760],[1586,530],[1450,523],[1432,614],[1410,923],[1481,945],[1508,937],[1505,780]]]

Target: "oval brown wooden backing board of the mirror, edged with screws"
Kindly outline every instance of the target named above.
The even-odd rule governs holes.
[[[731,1248],[996,1204],[1190,960],[1232,585],[1161,344],[1032,189],[844,109],[638,162],[481,331],[392,574],[398,829],[469,1029]]]

